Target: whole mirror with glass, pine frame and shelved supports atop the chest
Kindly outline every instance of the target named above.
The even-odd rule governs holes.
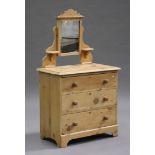
[[[79,55],[80,63],[92,63],[92,51],[83,40],[83,18],[80,13],[68,9],[56,17],[53,27],[54,41],[46,49],[43,67],[56,66],[58,56]]]

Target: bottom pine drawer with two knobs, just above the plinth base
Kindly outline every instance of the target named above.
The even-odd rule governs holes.
[[[99,110],[63,115],[61,121],[61,134],[68,134],[115,125],[116,106],[109,106]]]

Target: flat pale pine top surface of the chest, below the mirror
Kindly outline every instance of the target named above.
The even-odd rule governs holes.
[[[65,76],[74,74],[85,74],[85,73],[98,73],[107,71],[120,70],[118,67],[102,65],[102,64],[78,64],[78,65],[67,65],[67,66],[56,66],[53,68],[38,68],[39,72],[49,73],[53,75]]]

